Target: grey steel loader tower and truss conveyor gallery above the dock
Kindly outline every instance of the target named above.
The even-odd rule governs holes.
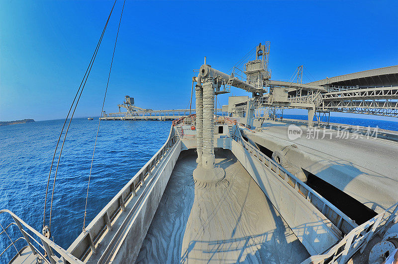
[[[263,55],[267,56],[265,59],[267,63],[260,63],[258,60],[257,55],[260,50],[264,50]],[[358,83],[352,83],[352,86],[328,87],[328,80],[303,84],[303,66],[297,68],[293,75],[294,77],[288,82],[271,80],[268,74],[264,76],[263,72],[268,72],[269,70],[268,42],[265,46],[262,46],[260,43],[255,55],[256,60],[246,63],[244,70],[240,70],[234,66],[229,76],[227,74],[225,74],[226,76],[222,76],[228,88],[224,89],[222,92],[229,92],[229,88],[234,86],[253,93],[252,100],[254,100],[253,106],[256,117],[265,116],[267,113],[272,114],[270,109],[275,108],[314,109],[316,113],[345,112],[397,117],[398,85],[394,80],[390,80],[386,74],[397,74],[398,66],[372,69],[333,77],[336,80],[340,80],[339,78],[342,77],[350,77],[353,79],[363,77],[373,78],[373,76],[369,74],[376,74],[380,80],[382,76],[385,76],[387,83],[391,83],[395,86],[365,87],[356,86]],[[217,71],[217,74],[220,75],[221,73]],[[296,81],[296,77],[297,83],[294,82]],[[326,83],[322,81],[326,81]],[[386,82],[381,80],[381,83],[381,85],[384,85]],[[326,114],[323,114],[323,119],[325,119],[325,115]],[[317,117],[317,119],[321,119],[320,116]]]

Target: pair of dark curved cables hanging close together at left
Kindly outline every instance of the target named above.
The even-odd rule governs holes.
[[[56,152],[57,152],[58,145],[59,145],[59,142],[60,142],[60,140],[61,140],[62,132],[64,131],[66,122],[67,122],[67,120],[68,120],[68,118],[69,118],[69,115],[70,115],[70,113],[71,113],[72,107],[73,107],[73,105],[75,104],[76,98],[77,98],[77,96],[78,96],[78,94],[79,94],[79,91],[80,91],[80,95],[79,95],[78,100],[76,101],[75,108],[74,108],[74,110],[73,110],[71,119],[70,119],[69,124],[68,124],[68,129],[67,129],[67,131],[65,132],[65,137],[64,137],[64,140],[63,140],[63,142],[62,142],[61,151],[60,151],[60,154],[59,154],[59,157],[58,157],[57,168],[56,168],[55,177],[54,177],[53,191],[52,191],[52,196],[51,196],[50,221],[49,221],[50,227],[51,227],[51,212],[52,212],[52,204],[53,204],[53,197],[54,197],[55,179],[56,179],[56,177],[57,177],[58,165],[59,165],[59,161],[60,161],[60,158],[61,158],[62,149],[63,149],[64,143],[65,143],[65,138],[66,138],[66,135],[67,135],[67,133],[68,133],[69,126],[70,126],[70,124],[71,124],[71,121],[72,121],[73,115],[74,115],[74,113],[75,113],[77,104],[79,103],[80,97],[81,97],[81,95],[82,95],[84,86],[86,85],[87,78],[88,78],[88,76],[89,76],[89,74],[90,74],[91,68],[93,67],[94,60],[96,59],[96,56],[97,56],[97,53],[98,53],[98,50],[99,50],[99,48],[100,48],[100,44],[101,44],[101,41],[102,41],[102,37],[103,37],[103,35],[104,35],[104,33],[105,33],[105,29],[106,29],[107,24],[108,24],[108,22],[109,22],[109,18],[110,18],[110,15],[112,14],[112,11],[113,11],[113,8],[114,8],[114,6],[115,6],[115,3],[116,3],[116,0],[114,1],[113,6],[112,6],[112,9],[110,10],[108,19],[106,20],[105,26],[104,26],[104,28],[103,28],[103,30],[102,30],[102,33],[101,33],[100,40],[98,41],[97,47],[96,47],[96,49],[94,50],[94,54],[93,54],[93,56],[92,56],[92,58],[91,58],[91,61],[90,61],[90,63],[89,63],[89,66],[88,66],[87,69],[86,69],[86,72],[85,72],[85,74],[84,74],[84,76],[83,76],[82,82],[80,83],[79,89],[78,89],[77,92],[76,92],[75,98],[73,99],[73,102],[72,102],[71,107],[70,107],[70,109],[69,109],[68,115],[67,115],[66,118],[65,118],[65,122],[64,122],[64,125],[63,125],[63,127],[62,127],[61,133],[60,133],[60,135],[59,135],[59,137],[58,137],[57,145],[56,145],[56,147],[55,147],[53,159],[52,159],[52,161],[51,161],[50,172],[49,172],[48,180],[47,180],[46,195],[45,195],[45,199],[44,199],[43,228],[45,227],[45,219],[46,219],[46,204],[47,204],[48,186],[49,186],[49,183],[50,183],[51,171],[52,171],[52,167],[53,167],[53,164],[54,164],[55,154],[56,154]],[[85,79],[86,79],[86,80],[85,80]],[[83,82],[84,82],[84,84],[83,84]],[[82,85],[83,85],[83,86],[82,86]]]

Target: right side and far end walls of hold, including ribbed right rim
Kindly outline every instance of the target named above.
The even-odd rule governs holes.
[[[228,134],[227,138],[215,134],[214,147],[232,150],[311,255],[321,254],[358,226],[296,176],[244,141],[239,126],[229,126]],[[187,148],[196,147],[195,137],[182,140]]]

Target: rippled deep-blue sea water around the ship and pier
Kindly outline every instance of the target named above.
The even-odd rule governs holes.
[[[306,116],[284,117],[306,119]],[[39,231],[48,172],[63,122],[51,120],[0,127],[0,209],[11,210]],[[398,131],[398,123],[390,121],[331,117],[330,122]],[[98,120],[73,120],[62,153],[54,194],[52,235],[54,241],[65,249],[83,228],[97,126]],[[171,121],[101,122],[86,223],[164,144],[170,126]],[[8,224],[9,218],[5,214],[0,215],[0,223],[3,226]],[[0,253],[8,244],[8,238],[1,235]],[[7,263],[15,253],[15,249],[8,249],[0,263]]]

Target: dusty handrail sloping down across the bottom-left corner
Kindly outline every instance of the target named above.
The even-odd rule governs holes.
[[[11,212],[10,210],[2,209],[2,210],[0,210],[0,214],[2,214],[2,213],[8,213],[8,214],[11,215],[11,217],[15,221],[15,224],[18,226],[19,231],[24,236],[24,240],[27,242],[27,244],[30,247],[30,249],[31,249],[33,254],[36,255],[36,254],[38,254],[40,252],[37,252],[37,249],[35,249],[33,247],[33,245],[30,243],[29,238],[26,236],[27,233],[26,233],[25,230],[23,230],[22,226],[25,227],[26,229],[28,229],[30,232],[32,232],[35,236],[40,238],[40,240],[43,243],[44,248],[47,248],[46,252],[47,252],[48,256],[54,256],[53,253],[52,253],[52,250],[55,250],[58,254],[61,255],[62,258],[64,258],[69,263],[71,263],[71,264],[83,264],[83,262],[81,262],[79,259],[75,258],[72,254],[68,253],[66,250],[64,250],[63,248],[61,248],[57,244],[55,244],[53,241],[51,241],[50,239],[46,238],[45,236],[43,236],[39,232],[37,232],[34,228],[32,228],[27,223],[25,223],[22,219],[20,219],[16,214]],[[38,243],[37,241],[35,241],[35,242]],[[40,243],[38,243],[38,244],[40,246],[42,246]],[[51,257],[50,257],[50,261],[51,260],[53,260],[53,259],[51,259]],[[54,261],[54,263],[55,263],[55,261]]]

